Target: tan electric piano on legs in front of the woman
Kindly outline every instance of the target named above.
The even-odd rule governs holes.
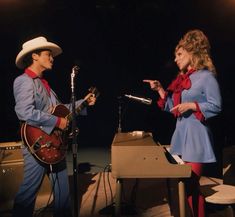
[[[155,143],[148,132],[115,134],[111,147],[111,173],[116,179],[115,216],[120,216],[123,178],[179,178],[179,212],[180,217],[185,217],[185,187],[181,178],[191,176],[191,167],[172,156],[167,147]]]

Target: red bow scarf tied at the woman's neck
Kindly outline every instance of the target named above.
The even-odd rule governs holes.
[[[180,73],[167,88],[168,91],[173,93],[172,98],[173,98],[174,107],[181,103],[182,91],[188,90],[191,87],[191,80],[189,76],[195,71],[196,71],[195,69],[190,69],[186,73]],[[174,115],[178,117],[180,113],[177,110],[175,110]]]

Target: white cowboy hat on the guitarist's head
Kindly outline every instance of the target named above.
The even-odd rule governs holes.
[[[62,53],[62,49],[57,44],[49,42],[47,41],[45,37],[40,36],[40,37],[31,39],[29,41],[26,41],[22,45],[22,50],[18,53],[16,57],[16,61],[15,61],[16,66],[20,69],[23,69],[25,67],[24,61],[23,61],[25,58],[25,55],[38,49],[50,50],[52,52],[53,57]]]

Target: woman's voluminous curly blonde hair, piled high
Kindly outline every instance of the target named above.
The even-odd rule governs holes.
[[[198,29],[188,31],[179,41],[175,52],[183,48],[192,54],[192,67],[195,69],[208,69],[216,74],[215,66],[210,55],[210,43],[205,34]]]

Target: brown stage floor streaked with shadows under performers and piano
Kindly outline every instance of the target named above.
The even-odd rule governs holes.
[[[113,216],[115,180],[109,170],[110,154],[110,148],[87,147],[78,149],[77,212],[79,217]],[[67,165],[71,192],[74,192],[71,152],[67,154]],[[177,217],[177,188],[174,180],[171,181],[171,186],[171,192],[173,193],[172,215],[168,203],[166,179],[124,179],[122,216]],[[52,217],[49,202],[51,188],[48,181],[45,182],[43,188],[36,202],[35,216]],[[73,198],[73,193],[71,197]],[[9,204],[5,208],[1,207],[1,217],[11,216],[12,203]],[[220,211],[210,213],[209,216],[222,217],[225,215],[223,211]]]

